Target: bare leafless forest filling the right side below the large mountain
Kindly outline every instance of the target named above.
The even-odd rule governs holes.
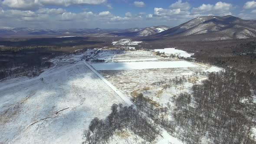
[[[255,144],[251,137],[252,128],[256,125],[256,103],[253,100],[256,95],[255,39],[189,42],[180,44],[179,49],[195,53],[186,60],[217,65],[224,70],[195,73],[208,79],[203,80],[201,85],[192,86],[190,93],[181,93],[173,98],[174,107],[156,105],[139,94],[133,98],[138,113],[147,114],[150,120],[158,124],[154,128],[161,125],[172,136],[187,144],[203,144],[203,139],[214,144]],[[188,80],[175,77],[152,85],[172,88],[170,85],[183,85]],[[144,121],[147,118],[139,119]],[[145,137],[150,132],[144,131],[139,136],[151,141]],[[91,134],[90,137],[95,136]]]

